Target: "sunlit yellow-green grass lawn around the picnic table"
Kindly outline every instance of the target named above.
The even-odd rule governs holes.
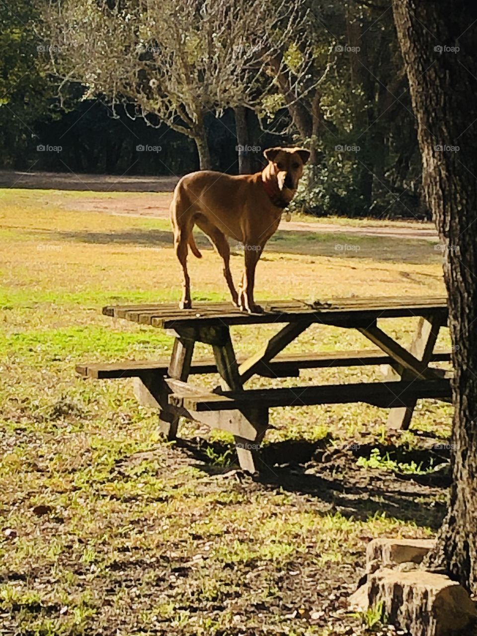
[[[66,203],[0,190],[0,634],[368,633],[373,617],[350,615],[347,595],[372,537],[438,527],[448,451],[436,443],[450,434],[450,406],[422,401],[412,430],[392,436],[387,411],[363,404],[272,410],[260,478],[230,470],[223,432],[183,424],[181,441],[164,443],[130,381],[84,381],[74,365],[170,352],[159,329],[100,313],[179,298],[169,225]],[[345,232],[277,233],[257,300],[444,293],[431,243]],[[228,300],[218,256],[204,237],[198,245],[193,298]],[[241,265],[236,251],[236,276]],[[383,326],[407,343],[415,324]],[[271,333],[234,328],[236,349]],[[366,346],[314,326],[289,350]],[[438,346],[449,346],[446,330]],[[379,373],[305,371],[300,382]]]

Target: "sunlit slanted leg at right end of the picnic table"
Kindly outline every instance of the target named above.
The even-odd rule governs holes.
[[[439,320],[431,315],[429,317],[420,317],[417,331],[413,342],[410,346],[410,353],[424,364],[428,364],[432,359],[432,352],[436,345],[441,324]],[[410,380],[412,374],[402,365],[389,368],[387,379]],[[390,429],[408,429],[411,423],[412,415],[416,406],[416,402],[403,406],[401,408],[393,408],[389,412],[387,418],[387,426]]]

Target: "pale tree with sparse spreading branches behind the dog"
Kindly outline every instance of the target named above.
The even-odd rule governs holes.
[[[45,8],[53,70],[88,95],[124,102],[131,116],[191,137],[211,168],[207,113],[251,106],[273,86],[270,58],[289,41],[302,0],[66,0]],[[305,73],[307,60],[301,65]],[[275,70],[286,73],[283,64]],[[263,83],[264,74],[268,81]]]

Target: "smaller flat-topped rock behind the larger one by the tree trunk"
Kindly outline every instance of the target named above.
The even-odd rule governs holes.
[[[434,539],[373,539],[366,546],[366,563],[378,561],[381,567],[409,562],[422,563],[424,556],[435,544]]]

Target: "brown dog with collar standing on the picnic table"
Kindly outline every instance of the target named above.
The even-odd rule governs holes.
[[[192,234],[193,226],[197,225],[223,259],[233,303],[242,311],[261,311],[253,298],[255,268],[263,247],[279,226],[284,208],[296,193],[303,165],[310,156],[303,148],[268,148],[263,154],[268,165],[262,172],[230,176],[201,170],[187,174],[177,183],[170,204],[170,219],[177,258],[184,273],[181,309],[191,307],[188,245],[195,256],[202,256]],[[245,269],[239,293],[230,273],[230,247],[226,237],[244,245]]]

